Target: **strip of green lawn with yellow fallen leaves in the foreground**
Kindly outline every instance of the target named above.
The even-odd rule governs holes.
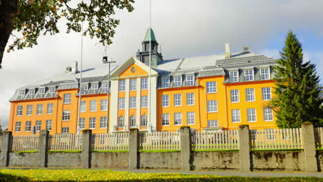
[[[111,170],[0,170],[0,181],[322,181],[307,177],[260,178],[215,175],[153,173],[137,174]]]

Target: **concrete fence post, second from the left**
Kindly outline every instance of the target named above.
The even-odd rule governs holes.
[[[47,130],[41,130],[39,135],[39,168],[47,167],[48,135]]]

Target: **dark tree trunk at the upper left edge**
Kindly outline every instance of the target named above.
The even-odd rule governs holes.
[[[0,68],[16,15],[17,0],[0,0]]]

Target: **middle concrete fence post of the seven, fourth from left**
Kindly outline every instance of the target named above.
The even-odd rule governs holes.
[[[137,128],[131,128],[129,133],[129,154],[128,154],[129,170],[135,170],[139,168],[138,153],[139,153],[139,130]]]

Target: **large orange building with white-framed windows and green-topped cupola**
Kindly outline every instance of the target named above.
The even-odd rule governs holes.
[[[75,62],[57,77],[17,89],[10,99],[9,130],[26,135],[40,130],[176,131],[183,125],[195,130],[237,130],[241,124],[277,128],[268,107],[275,59],[247,47],[231,53],[226,44],[225,54],[164,60],[151,29],[141,44],[136,57],[112,65],[110,84],[104,67],[84,70],[80,81]]]

